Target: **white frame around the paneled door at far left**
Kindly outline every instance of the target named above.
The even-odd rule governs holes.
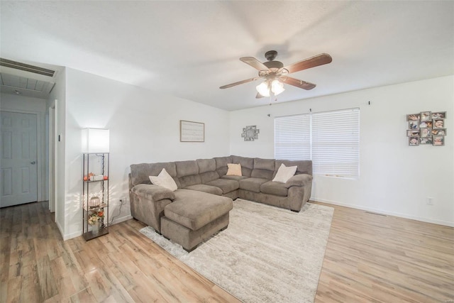
[[[12,113],[19,114],[35,114],[36,115],[36,160],[38,178],[37,178],[37,187],[38,187],[38,202],[46,201],[46,178],[45,178],[45,113],[41,111],[28,111],[25,109],[8,109],[1,108],[1,111],[9,111]]]

